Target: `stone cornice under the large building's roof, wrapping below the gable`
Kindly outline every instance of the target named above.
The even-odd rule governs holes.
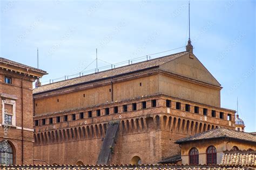
[[[162,74],[166,76],[173,77],[174,79],[179,79],[182,81],[198,84],[200,86],[208,87],[208,88],[213,88],[220,90],[222,87],[219,86],[214,86],[212,84],[208,84],[205,82],[201,82],[198,80],[190,79],[184,76],[180,76],[177,74],[173,74],[170,72],[166,72],[165,70],[161,70],[159,68],[153,68],[150,70],[145,70],[143,72],[139,73],[133,73],[130,75],[123,75],[123,76],[115,76],[115,77],[109,77],[109,79],[106,80],[99,80],[99,81],[93,81],[93,82],[88,82],[85,84],[78,84],[77,86],[72,86],[72,87],[66,87],[66,88],[61,88],[61,89],[56,89],[56,90],[51,90],[51,91],[45,91],[39,94],[33,94],[33,98],[39,99],[39,98],[44,98],[44,97],[50,97],[50,96],[55,96],[55,95],[61,95],[61,94],[66,94],[66,93],[72,93],[73,91],[79,91],[79,90],[84,90],[84,89],[89,89],[89,88],[94,88],[94,87],[100,87],[100,86],[106,86],[111,83],[116,83],[116,82],[124,82],[132,79],[138,79],[140,77],[146,77],[150,75],[156,75],[156,74]]]

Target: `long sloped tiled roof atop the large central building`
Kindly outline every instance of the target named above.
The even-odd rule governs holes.
[[[156,58],[156,59],[152,59],[152,60],[148,60],[148,61],[134,63],[132,65],[127,65],[127,66],[123,66],[123,67],[105,70],[105,71],[99,72],[99,73],[93,73],[93,74],[89,74],[89,75],[85,75],[85,76],[81,76],[81,77],[76,77],[76,78],[73,78],[70,80],[46,84],[44,86],[40,86],[38,88],[33,89],[33,94],[42,93],[44,91],[49,91],[49,90],[58,89],[58,88],[62,88],[62,87],[68,87],[68,86],[72,86],[72,85],[79,84],[79,83],[100,80],[100,79],[107,78],[107,77],[112,77],[112,76],[117,76],[117,75],[127,74],[127,73],[131,73],[131,72],[137,72],[139,70],[157,67],[157,66],[163,65],[166,62],[177,59],[180,56],[186,55],[188,53],[189,52],[180,52],[180,53],[176,53],[176,54],[172,54],[172,55],[162,56],[160,58]]]

